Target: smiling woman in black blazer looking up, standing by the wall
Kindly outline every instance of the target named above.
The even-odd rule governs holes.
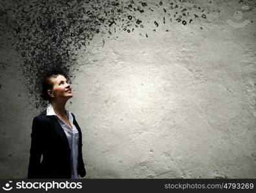
[[[43,80],[42,88],[43,99],[50,103],[33,120],[28,178],[83,177],[81,129],[74,115],[65,109],[72,98],[70,84],[64,75],[56,73]]]

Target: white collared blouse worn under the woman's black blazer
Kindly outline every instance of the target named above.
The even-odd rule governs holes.
[[[51,104],[48,104],[47,106],[47,115],[55,115],[59,124],[61,125],[62,129],[65,131],[65,134],[67,136],[67,139],[69,141],[69,147],[70,147],[70,161],[71,161],[71,178],[77,179],[78,178],[78,143],[79,143],[79,133],[78,129],[76,129],[76,126],[73,123],[73,116],[71,112],[67,109],[65,109],[68,117],[69,122],[72,125],[72,128],[69,127],[69,125],[65,124],[61,119],[58,118],[56,113],[54,112],[54,109]]]

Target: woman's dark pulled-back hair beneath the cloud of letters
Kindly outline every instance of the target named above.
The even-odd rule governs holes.
[[[62,75],[63,77],[67,77],[66,75],[63,75],[63,73],[51,73],[50,75],[46,75],[45,78],[43,78],[42,82],[42,94],[41,97],[43,100],[50,101],[51,98],[48,95],[48,89],[52,89],[54,84],[52,82],[52,78],[57,78],[59,75]]]

